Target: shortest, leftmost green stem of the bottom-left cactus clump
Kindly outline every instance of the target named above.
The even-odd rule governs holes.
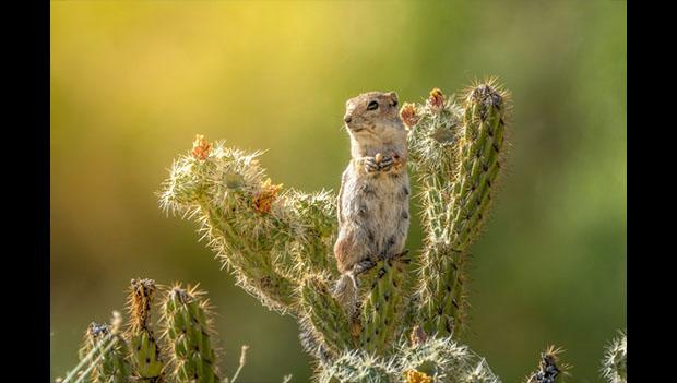
[[[92,362],[92,382],[127,383],[131,367],[128,361],[128,347],[115,326],[92,323],[85,335],[83,357],[88,355]],[[91,355],[90,355],[91,354]]]

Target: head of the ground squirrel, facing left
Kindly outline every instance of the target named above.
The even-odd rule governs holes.
[[[343,121],[351,136],[357,141],[406,136],[395,92],[363,93],[348,99],[345,109]]]

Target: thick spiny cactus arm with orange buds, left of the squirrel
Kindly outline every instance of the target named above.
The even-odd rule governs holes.
[[[200,146],[202,145],[202,146]],[[266,307],[295,311],[294,291],[309,273],[337,273],[332,256],[335,198],[281,192],[260,167],[260,153],[201,148],[175,161],[159,193],[165,210],[197,216],[211,248],[238,284]]]

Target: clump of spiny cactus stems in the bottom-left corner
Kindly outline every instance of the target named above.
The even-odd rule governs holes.
[[[122,318],[114,311],[111,324],[92,323],[85,334],[80,363],[61,383],[219,383],[218,359],[214,350],[216,333],[204,291],[197,287],[183,289],[156,286],[153,279],[132,279],[128,309],[130,320],[122,332]],[[156,338],[152,311],[156,291],[162,298],[159,326],[163,335]],[[245,364],[242,346],[240,367]],[[166,361],[166,363],[165,363]]]

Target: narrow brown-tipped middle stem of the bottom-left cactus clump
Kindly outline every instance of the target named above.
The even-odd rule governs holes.
[[[155,298],[153,279],[132,279],[129,297],[131,325],[129,345],[133,376],[147,383],[164,382],[161,349],[151,325],[151,308]]]

